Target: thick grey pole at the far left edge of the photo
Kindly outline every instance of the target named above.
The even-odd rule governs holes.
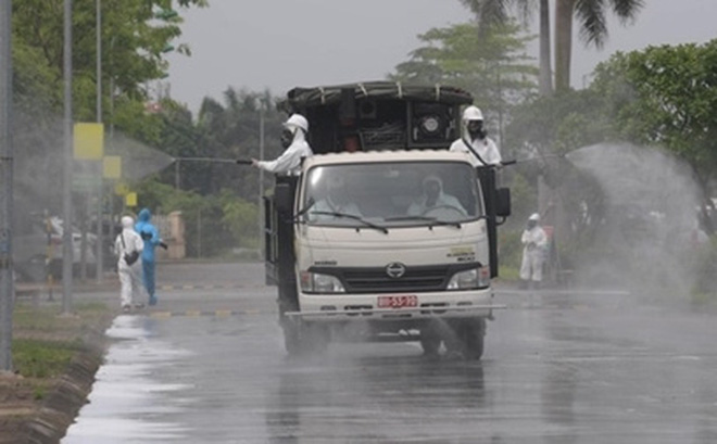
[[[0,370],[12,370],[12,4],[0,1]]]

